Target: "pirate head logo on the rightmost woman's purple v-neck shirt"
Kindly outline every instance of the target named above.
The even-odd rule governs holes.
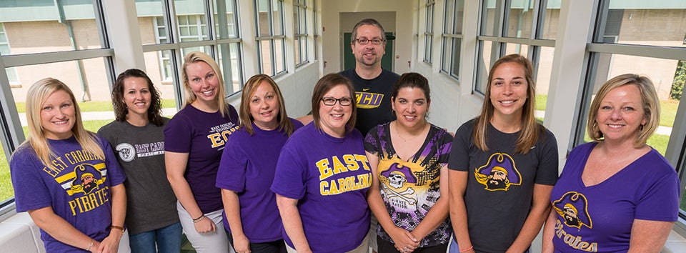
[[[588,200],[584,194],[567,192],[560,199],[552,202],[552,208],[555,209],[557,214],[565,218],[567,227],[580,229],[581,226],[588,228],[593,226],[591,217],[588,214]]]

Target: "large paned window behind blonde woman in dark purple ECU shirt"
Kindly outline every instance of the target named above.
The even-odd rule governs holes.
[[[167,12],[162,11],[161,0],[136,1],[148,74],[155,84],[158,84],[156,80],[161,84],[172,84],[158,87],[162,99],[182,104],[183,82],[179,80],[179,70],[184,55],[191,51],[202,51],[213,56],[222,69],[227,95],[242,90],[241,39],[236,1],[212,1],[212,15],[207,13],[206,4],[209,1],[173,1],[167,6],[175,13],[175,18],[170,21]],[[149,29],[149,26],[153,29]],[[152,69],[159,69],[159,77],[153,74]]]

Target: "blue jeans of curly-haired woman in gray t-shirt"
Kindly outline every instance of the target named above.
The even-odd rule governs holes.
[[[181,223],[177,222],[166,227],[129,234],[131,253],[137,252],[181,252]]]

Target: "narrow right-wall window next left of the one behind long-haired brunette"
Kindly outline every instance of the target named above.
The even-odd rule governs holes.
[[[441,71],[457,78],[459,77],[459,55],[462,46],[464,0],[447,0],[444,10]]]

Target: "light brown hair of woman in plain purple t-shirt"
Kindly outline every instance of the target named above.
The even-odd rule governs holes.
[[[279,131],[285,132],[288,136],[291,136],[291,134],[295,131],[295,127],[293,126],[293,122],[288,119],[288,115],[286,114],[284,96],[281,94],[281,90],[279,89],[277,82],[275,82],[272,77],[269,77],[266,74],[256,74],[250,77],[250,79],[248,79],[243,86],[241,107],[239,109],[241,127],[244,128],[245,131],[247,131],[250,135],[252,135],[252,121],[254,121],[254,118],[252,117],[252,114],[250,114],[250,98],[255,94],[255,90],[257,87],[259,87],[259,84],[262,84],[263,81],[266,81],[267,84],[272,86],[274,93],[277,95],[277,99],[279,99],[279,115],[277,115],[277,121],[279,121]]]

